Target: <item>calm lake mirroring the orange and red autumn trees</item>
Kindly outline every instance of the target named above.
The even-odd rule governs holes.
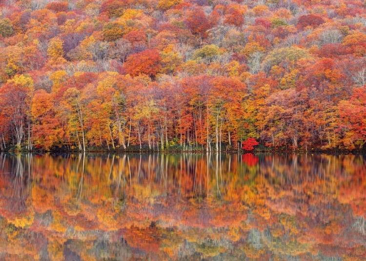
[[[365,156],[0,154],[0,260],[365,259]]]

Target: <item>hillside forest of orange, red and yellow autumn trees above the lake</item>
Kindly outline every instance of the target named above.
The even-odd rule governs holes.
[[[0,9],[2,150],[366,142],[365,1],[4,0]]]

